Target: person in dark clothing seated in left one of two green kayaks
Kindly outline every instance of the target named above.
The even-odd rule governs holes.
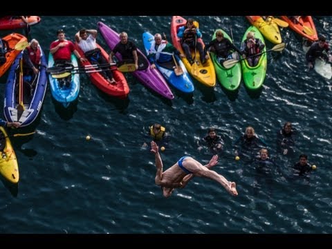
[[[206,51],[210,51],[216,54],[216,60],[219,64],[223,64],[226,59],[239,59],[237,53],[241,54],[241,50],[234,46],[229,39],[223,37],[221,30],[216,31],[216,38],[213,39],[208,46],[205,46]]]

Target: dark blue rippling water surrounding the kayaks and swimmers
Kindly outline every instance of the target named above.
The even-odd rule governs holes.
[[[237,46],[249,26],[244,17],[195,18],[205,41],[216,28],[231,27]],[[77,30],[96,28],[98,21],[127,31],[141,49],[145,31],[170,36],[170,16],[42,17],[30,35],[48,54],[59,28],[73,40]],[[330,39],[331,17],[314,21],[318,33]],[[0,35],[9,32],[1,30]],[[207,89],[194,82],[193,95],[173,89],[175,99],[168,101],[127,75],[129,98],[116,100],[80,75],[78,101],[64,110],[48,90],[39,120],[32,128],[15,131],[35,128],[37,133],[12,138],[20,181],[17,190],[0,186],[0,232],[331,233],[331,80],[305,71],[300,37],[288,28],[282,37],[286,49],[281,55],[268,55],[266,80],[255,94],[243,84],[239,93],[230,95],[219,83]],[[106,48],[101,36],[98,41]],[[2,96],[7,76],[0,78]],[[286,121],[299,136],[295,154],[282,156],[275,140]],[[216,127],[225,149],[214,170],[237,182],[239,196],[230,196],[213,181],[194,178],[185,189],[163,198],[154,184],[154,155],[141,148],[154,122],[171,134],[162,154],[165,169],[183,155],[208,163],[212,154],[197,151],[196,142],[208,127]],[[232,142],[248,125],[267,142],[281,172],[257,175],[245,160],[234,160]],[[309,181],[290,177],[290,167],[302,152],[317,165]]]

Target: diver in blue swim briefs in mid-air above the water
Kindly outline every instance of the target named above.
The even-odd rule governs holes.
[[[190,156],[183,156],[172,167],[163,172],[163,161],[159,154],[159,147],[156,142],[151,141],[151,152],[154,153],[156,160],[156,178],[155,183],[163,190],[163,196],[169,197],[172,195],[174,188],[183,188],[194,176],[201,176],[210,178],[220,183],[225,190],[232,196],[237,196],[237,185],[234,182],[228,181],[211,170],[214,165],[218,163],[218,156],[212,156],[207,165],[202,165],[199,161]]]

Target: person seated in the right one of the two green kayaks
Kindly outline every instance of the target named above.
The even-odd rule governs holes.
[[[255,38],[255,33],[248,32],[247,39],[241,44],[241,54],[243,58],[247,58],[249,66],[257,65],[260,55],[258,53],[263,50],[265,45],[261,39]]]

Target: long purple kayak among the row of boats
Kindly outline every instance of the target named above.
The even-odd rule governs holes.
[[[120,42],[119,34],[109,28],[109,26],[107,26],[106,24],[103,24],[100,21],[98,22],[98,28],[100,30],[100,34],[102,34],[102,37],[104,37],[104,40],[107,46],[109,46],[109,48],[113,49],[116,44]],[[150,69],[151,64],[149,60],[147,59],[147,57],[145,57],[145,55],[143,55],[143,53],[139,49],[137,49],[137,55],[138,64],[145,64],[147,66],[145,69],[136,70],[132,74],[137,77],[138,80],[140,80],[140,82],[142,82],[142,84],[147,86],[149,89],[152,89],[156,93],[159,93],[160,95],[169,100],[174,99],[174,95],[171,89],[169,89],[169,86],[167,85],[167,82],[165,81],[163,75],[161,75],[161,73],[156,69]],[[119,61],[122,60],[120,53],[116,53],[116,57],[119,59]]]

